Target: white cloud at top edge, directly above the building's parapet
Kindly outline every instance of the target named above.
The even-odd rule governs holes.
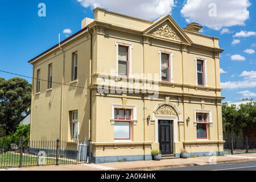
[[[175,6],[174,0],[140,0],[140,1],[120,1],[120,0],[77,0],[84,7],[102,7],[117,13],[135,16],[137,18],[155,20],[160,16],[170,14]]]

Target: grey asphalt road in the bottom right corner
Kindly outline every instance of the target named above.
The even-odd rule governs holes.
[[[159,171],[256,171],[256,161],[168,168]]]

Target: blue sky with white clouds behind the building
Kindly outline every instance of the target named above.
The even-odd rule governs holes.
[[[32,76],[28,60],[55,46],[81,29],[81,20],[93,18],[92,9],[105,9],[148,20],[170,13],[181,28],[189,22],[200,23],[202,34],[220,38],[222,96],[225,101],[240,101],[256,96],[256,5],[249,0],[13,0],[1,1],[0,56],[3,71]],[[46,5],[46,17],[38,16],[39,3]],[[216,5],[216,16],[206,14]],[[136,5],[136,6],[135,6]],[[143,7],[143,8],[142,8]],[[213,6],[214,7],[214,6]],[[68,33],[64,33],[67,29]],[[71,33],[70,33],[71,31]],[[232,42],[234,44],[232,44]],[[236,43],[236,44],[235,44]],[[247,50],[247,51],[246,51]],[[208,68],[210,69],[210,68]],[[0,77],[15,77],[0,72]],[[28,79],[31,82],[30,79]]]

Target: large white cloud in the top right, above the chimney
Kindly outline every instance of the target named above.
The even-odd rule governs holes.
[[[250,18],[249,6],[249,0],[187,0],[180,12],[192,22],[220,30],[222,27],[245,26],[245,20]]]

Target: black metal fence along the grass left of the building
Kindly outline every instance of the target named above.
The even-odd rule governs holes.
[[[87,149],[84,141],[0,141],[0,169],[86,163]]]

